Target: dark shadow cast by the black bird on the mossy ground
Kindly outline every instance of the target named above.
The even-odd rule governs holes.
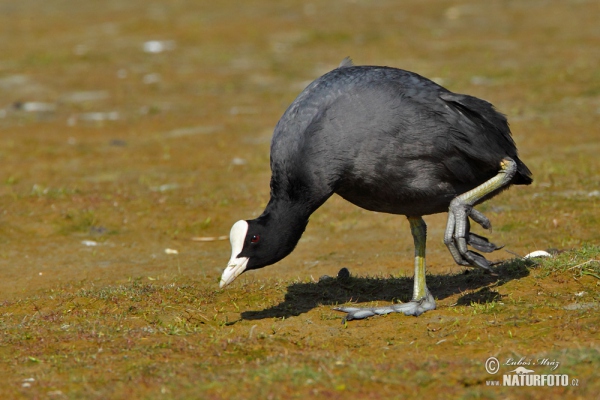
[[[458,305],[489,303],[502,298],[491,287],[528,276],[529,268],[534,265],[529,260],[515,259],[492,267],[491,274],[481,269],[467,269],[458,274],[428,275],[427,287],[438,300],[462,293],[456,302]],[[348,302],[407,302],[411,299],[412,288],[413,278],[408,277],[350,276],[292,283],[283,302],[260,311],[242,312],[241,319],[288,318],[320,305],[334,306]]]

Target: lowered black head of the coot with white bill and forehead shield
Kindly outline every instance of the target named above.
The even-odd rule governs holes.
[[[233,224],[229,234],[231,259],[221,276],[220,287],[229,285],[246,271],[274,264],[294,250],[306,223],[277,222],[263,216]]]

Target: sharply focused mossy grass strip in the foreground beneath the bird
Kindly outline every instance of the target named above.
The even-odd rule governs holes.
[[[2,304],[2,397],[590,398],[599,389],[599,260],[600,248],[586,247],[506,262],[498,277],[430,276],[438,310],[347,324],[330,305],[405,300],[410,279],[269,279],[223,291],[182,277],[47,290]],[[555,372],[529,368],[579,386],[487,387],[491,356],[557,361]]]

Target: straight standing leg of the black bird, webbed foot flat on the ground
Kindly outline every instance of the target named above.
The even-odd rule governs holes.
[[[425,311],[435,309],[435,300],[425,283],[425,239],[427,238],[427,225],[421,217],[408,217],[410,222],[410,232],[415,241],[415,277],[413,287],[413,298],[408,303],[393,304],[385,307],[338,307],[334,310],[347,312],[344,321],[353,319],[368,318],[373,315],[383,315],[393,312],[401,312],[405,315],[414,315],[415,317],[423,314]]]

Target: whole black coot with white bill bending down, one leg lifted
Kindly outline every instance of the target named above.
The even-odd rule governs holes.
[[[231,260],[220,286],[292,252],[310,215],[337,193],[371,211],[408,217],[415,242],[413,298],[387,307],[341,307],[346,319],[435,309],[425,283],[423,215],[448,211],[444,242],[454,261],[486,270],[499,247],[469,231],[473,206],[510,185],[528,185],[504,115],[487,101],[452,93],[413,72],[354,66],[345,59],[289,106],[271,141],[271,199],[261,216],[231,228]]]

